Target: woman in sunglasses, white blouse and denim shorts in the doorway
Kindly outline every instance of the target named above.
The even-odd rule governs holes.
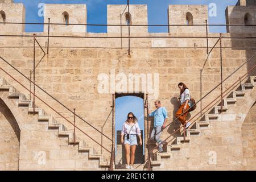
[[[123,140],[123,135],[125,135],[125,140]],[[137,135],[139,137],[139,145],[142,145],[141,129],[139,129],[138,119],[130,112],[127,115],[127,120],[123,123],[121,132],[121,143],[125,145],[126,169],[133,169],[136,146],[138,145]]]

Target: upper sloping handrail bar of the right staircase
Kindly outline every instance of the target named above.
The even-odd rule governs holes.
[[[249,63],[249,61],[251,61],[251,59],[253,59],[253,57],[254,57],[255,55],[256,55],[256,53],[255,53],[253,56],[251,56],[250,59],[248,59],[247,61],[245,61],[245,63],[243,63],[242,65],[240,65],[240,67],[238,67],[234,72],[232,72],[232,73],[231,73],[228,77],[226,77],[222,82],[220,82],[220,84],[216,85],[212,90],[210,90],[207,94],[205,94],[205,96],[202,97],[199,101],[197,101],[194,105],[198,104],[201,100],[204,100],[205,97],[207,97],[210,93],[212,93],[212,92],[213,92],[216,88],[218,88],[218,86],[220,86],[223,82],[225,82],[226,80],[228,80],[228,78],[230,78],[232,75],[234,75],[234,73],[236,73],[240,68],[242,68],[243,65]],[[194,105],[192,105],[191,107],[193,107]],[[179,119],[181,116],[183,116],[183,114],[179,115],[179,117],[177,117],[176,119],[174,119],[174,121],[172,121],[172,122],[177,121],[177,119]],[[172,123],[172,122],[171,122],[171,123]],[[166,127],[162,128],[162,130],[159,131],[158,133],[156,133],[156,134],[154,135],[154,137],[155,137],[156,135],[158,135],[159,133],[161,133],[164,129],[167,129],[167,127],[170,126],[171,123],[169,123]],[[161,144],[163,144],[163,141],[161,142]]]

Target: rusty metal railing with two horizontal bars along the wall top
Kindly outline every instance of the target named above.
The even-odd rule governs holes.
[[[128,13],[130,12],[130,3],[127,0]],[[49,35],[50,34],[50,26],[67,26],[66,23],[50,23],[50,18],[48,18],[48,23],[26,23],[26,22],[0,22],[0,24],[31,24],[31,25],[48,25],[48,34],[47,35],[38,35],[38,37],[45,37],[47,38],[47,54],[49,53],[49,38],[87,38],[87,39],[121,39],[121,48],[122,48],[122,39],[128,39],[128,55],[130,55],[130,44],[131,39],[143,39],[143,38],[151,38],[151,39],[158,39],[158,38],[197,38],[197,39],[206,39],[207,40],[207,53],[209,52],[209,39],[217,39],[216,36],[208,36],[208,26],[225,26],[225,27],[255,27],[255,24],[208,24],[208,20],[205,20],[205,24],[122,24],[122,20],[120,24],[88,24],[88,23],[68,23],[68,26],[106,26],[106,27],[121,27],[121,36],[65,36],[65,35]],[[130,27],[197,27],[197,26],[205,26],[206,36],[130,36]],[[122,36],[122,27],[128,27],[128,36]],[[7,36],[7,37],[32,37],[33,35],[0,35],[0,36]],[[233,37],[226,37],[229,39],[256,39],[256,36],[233,36]],[[222,37],[225,39],[225,37]]]

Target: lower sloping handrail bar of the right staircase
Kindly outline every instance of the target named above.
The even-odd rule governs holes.
[[[243,76],[240,77],[236,82],[234,82],[234,84],[232,84],[231,86],[229,86],[229,88],[226,89],[226,90],[223,92],[223,94],[226,93],[230,88],[236,87],[236,86],[237,86],[237,85],[236,85],[237,83],[240,84],[240,82],[241,82],[242,80],[245,80],[246,75],[248,75],[251,71],[253,71],[254,68],[256,68],[256,64],[255,64],[248,72],[246,72],[245,75],[243,75]],[[235,85],[235,86],[234,86],[234,85]],[[232,90],[230,90],[230,91],[232,91]],[[230,91],[229,91],[229,92],[230,92]],[[226,93],[226,94],[224,94],[224,96],[228,95],[229,92]],[[220,97],[221,97],[221,94],[220,94],[218,97],[216,97],[214,100],[212,100],[210,103],[213,103],[214,101],[216,101],[216,100],[218,99],[216,102],[214,102],[214,104],[210,104],[210,105],[214,106],[214,105],[216,105],[218,102],[220,102],[220,101],[221,101],[221,99],[219,99]],[[209,106],[209,105],[208,105],[208,106]],[[207,107],[208,107],[208,106],[207,106]],[[205,107],[203,110],[207,109],[207,107]],[[209,109],[211,109],[211,108],[209,108]],[[209,109],[208,109],[208,110],[209,110]],[[207,110],[207,111],[208,111],[208,110]],[[203,114],[205,114],[207,111],[205,111]],[[198,112],[197,114],[195,114],[192,118],[190,118],[189,121],[191,121],[193,118],[195,118],[195,117],[196,117],[197,115],[199,115],[200,113],[201,113],[201,111],[199,111],[199,112]],[[195,122],[197,121],[197,119],[199,119],[199,118],[200,118],[200,117],[196,118],[193,122],[191,122],[191,125],[192,125],[193,123],[195,123]],[[177,118],[176,118],[176,119],[177,119]],[[176,119],[175,119],[173,122],[171,122],[171,123],[174,123],[174,122],[176,121]],[[171,125],[171,123],[170,123],[169,125]],[[177,129],[176,131],[174,131],[174,133],[171,133],[166,139],[164,139],[164,140],[162,141],[162,144],[165,143],[167,139],[169,139],[170,137],[172,137],[172,135],[174,135],[175,133],[177,133],[177,131],[179,131],[179,130],[182,129],[182,128],[184,128],[184,127],[181,126],[179,129]],[[182,130],[182,131],[184,131],[184,130]],[[182,132],[182,131],[181,131],[181,132]],[[152,152],[153,150],[155,150],[156,148],[157,148],[157,146],[154,147],[154,148],[152,148],[151,152]]]

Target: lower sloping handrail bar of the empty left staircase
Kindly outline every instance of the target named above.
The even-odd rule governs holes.
[[[0,67],[0,69],[5,72],[8,76],[10,76],[11,78],[13,78],[13,80],[15,80],[16,82],[18,82],[18,84],[20,84],[21,86],[23,86],[24,89],[26,89],[28,92],[30,92],[31,94],[33,94],[36,98],[38,98],[40,101],[42,101],[45,105],[47,105],[49,108],[51,108],[53,111],[55,111],[58,115],[60,115],[60,117],[64,118],[67,122],[69,122],[72,126],[74,126],[76,129],[78,129],[79,131],[81,131],[81,133],[85,134],[87,137],[89,137],[90,139],[93,140],[93,142],[97,143],[98,145],[100,145],[102,148],[104,148],[106,151],[110,152],[107,148],[105,148],[104,146],[102,146],[100,143],[98,143],[96,140],[94,140],[92,137],[90,137],[90,135],[86,134],[84,131],[82,131],[79,127],[77,127],[74,123],[72,123],[71,121],[69,121],[67,118],[65,118],[63,115],[61,115],[57,110],[55,110],[52,106],[50,106],[49,104],[47,104],[46,101],[44,101],[42,98],[36,96],[36,94],[34,94],[33,92],[30,91],[30,89],[26,88],[26,86],[24,86],[22,83],[20,83],[18,80],[16,80],[13,76],[11,76],[7,71],[5,71],[3,68]],[[74,114],[75,115],[75,114]]]

